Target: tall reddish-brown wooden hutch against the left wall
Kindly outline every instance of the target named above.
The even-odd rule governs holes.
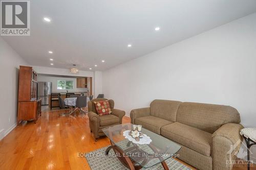
[[[37,100],[37,74],[32,67],[19,66],[17,125],[22,120],[34,120],[41,115],[41,100]]]

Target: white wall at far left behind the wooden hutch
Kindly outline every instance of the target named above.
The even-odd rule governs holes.
[[[0,140],[16,126],[19,65],[28,65],[0,37]]]

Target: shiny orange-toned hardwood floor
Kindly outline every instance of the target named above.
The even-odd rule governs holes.
[[[94,141],[88,116],[59,117],[62,112],[42,112],[36,124],[25,122],[1,140],[0,169],[90,169],[77,153],[106,147],[110,141],[107,137]],[[129,122],[130,117],[123,118],[123,123]]]

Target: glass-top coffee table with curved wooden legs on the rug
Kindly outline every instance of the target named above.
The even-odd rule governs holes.
[[[123,135],[124,131],[132,128],[133,124],[121,124],[102,129],[111,142],[105,154],[108,155],[113,149],[115,156],[129,169],[148,168],[159,163],[164,169],[169,169],[165,160],[175,156],[181,146],[143,127],[141,132],[149,136],[152,141],[149,144],[136,144]]]

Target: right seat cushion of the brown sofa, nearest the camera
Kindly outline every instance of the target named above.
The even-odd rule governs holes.
[[[212,134],[208,132],[175,122],[162,127],[161,135],[176,141],[191,150],[197,151],[205,156],[210,156]]]

